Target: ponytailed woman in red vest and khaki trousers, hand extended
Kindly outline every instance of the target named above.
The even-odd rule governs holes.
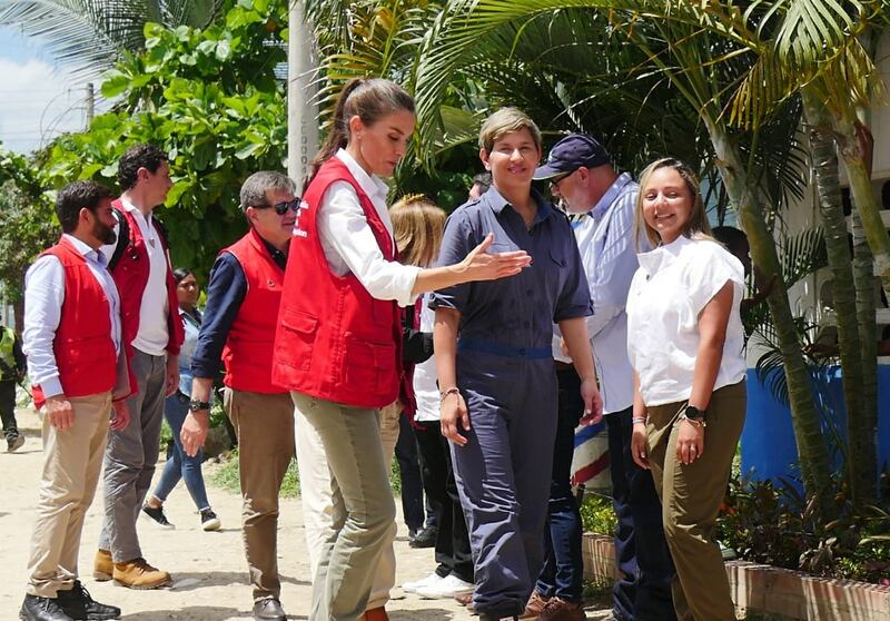
[[[405,155],[414,121],[414,101],[398,85],[349,81],[290,241],[273,382],[291,391],[298,427],[317,433],[334,491],[313,621],[387,619],[383,607],[365,609],[395,530],[378,408],[399,393],[399,306],[423,292],[513,276],[530,264],[522,250],[486,254],[493,236],[459,264],[423,269],[396,262],[388,188],[379,177]]]

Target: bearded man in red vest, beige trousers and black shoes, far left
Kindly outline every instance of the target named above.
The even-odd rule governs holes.
[[[120,609],[93,601],[77,572],[108,430],[129,422],[120,298],[99,252],[115,240],[116,220],[110,193],[93,181],[62,189],[56,210],[63,235],[38,257],[24,286],[23,348],[34,403],[46,407],[43,473],[19,615],[117,619]]]

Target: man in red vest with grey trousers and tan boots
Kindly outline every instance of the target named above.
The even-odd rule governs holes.
[[[112,431],[106,448],[105,523],[93,575],[131,589],[157,589],[170,583],[170,574],[142,556],[136,520],[158,461],[164,400],[179,385],[184,337],[167,239],[151,216],[172,186],[167,155],[152,145],[130,147],[118,162],[118,180],[123,194],[112,205],[127,238],[102,253],[113,259],[136,392],[127,402],[132,424]]]

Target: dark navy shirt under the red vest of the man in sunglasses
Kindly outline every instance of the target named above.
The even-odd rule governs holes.
[[[287,266],[287,256],[265,239],[263,243],[273,260],[284,269]],[[210,269],[204,323],[191,358],[194,377],[216,378],[219,375],[222,348],[226,346],[231,324],[238,316],[245,296],[247,296],[247,277],[244,275],[241,264],[231,253],[221,253]],[[269,312],[276,313],[277,308]]]

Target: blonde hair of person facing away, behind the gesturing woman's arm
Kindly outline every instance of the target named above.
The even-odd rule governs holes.
[[[438,256],[445,211],[422,194],[403,196],[389,209],[398,260],[428,267]]]

